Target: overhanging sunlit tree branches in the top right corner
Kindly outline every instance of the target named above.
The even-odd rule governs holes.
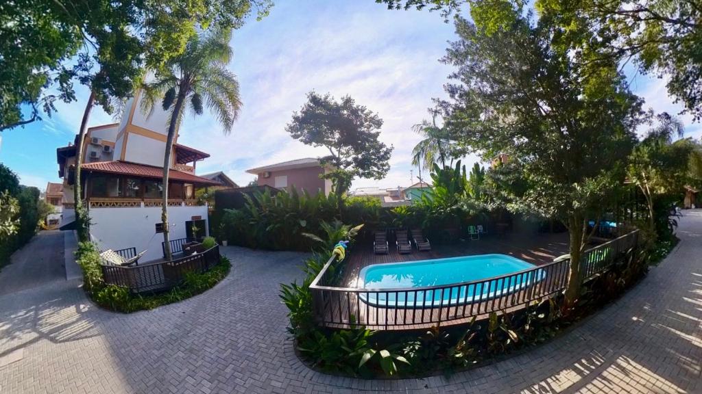
[[[557,39],[577,50],[607,43],[591,61],[634,59],[642,72],[667,76],[668,92],[702,118],[702,2],[699,0],[538,0]],[[597,44],[599,46],[599,44]]]

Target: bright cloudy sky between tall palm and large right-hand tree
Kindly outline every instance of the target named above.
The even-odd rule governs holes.
[[[351,95],[376,111],[384,121],[380,140],[395,147],[386,179],[359,179],[354,186],[408,184],[410,152],[419,140],[411,126],[428,117],[432,97],[444,96],[451,68],[438,60],[453,26],[434,14],[371,5],[349,13],[322,7],[294,15],[282,5],[270,18],[235,32],[232,69],[244,108],[232,135],[224,137],[211,116],[189,117],[181,128],[179,142],[211,154],[199,171],[225,170],[245,184],[251,179],[247,168],[324,155],[324,149],[296,142],[284,130],[314,89],[336,98]]]

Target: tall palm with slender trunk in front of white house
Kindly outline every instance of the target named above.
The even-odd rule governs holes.
[[[168,170],[171,167],[173,139],[185,109],[190,107],[194,115],[201,115],[206,104],[217,116],[225,135],[231,132],[241,109],[239,82],[226,69],[232,57],[232,48],[229,46],[231,35],[230,31],[218,30],[211,34],[192,36],[183,54],[169,60],[156,73],[154,81],[144,86],[145,111],[152,111],[158,99],[161,99],[164,110],[171,111],[164,154],[161,208],[166,259],[171,259],[171,246],[168,243]]]

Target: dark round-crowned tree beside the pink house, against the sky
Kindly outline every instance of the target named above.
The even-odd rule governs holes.
[[[334,100],[329,93],[307,93],[307,103],[285,130],[313,147],[325,147],[329,156],[322,164],[331,171],[322,175],[331,179],[333,191],[341,198],[355,177],[383,179],[390,170],[392,147],[378,141],[383,120],[350,96]]]

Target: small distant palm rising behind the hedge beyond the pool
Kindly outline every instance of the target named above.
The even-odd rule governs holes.
[[[432,121],[422,121],[412,126],[412,130],[423,137],[412,149],[412,165],[419,167],[420,177],[422,168],[432,170],[434,163],[446,166],[450,154],[450,142],[446,128],[437,125],[437,111],[431,111]]]

